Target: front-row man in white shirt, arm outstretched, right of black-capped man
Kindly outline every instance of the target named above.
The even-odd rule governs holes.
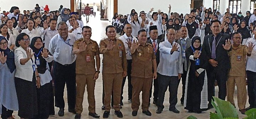
[[[177,104],[178,83],[183,73],[181,46],[175,42],[176,30],[167,30],[167,41],[159,44],[160,63],[157,68],[159,76],[159,95],[158,109],[156,113],[160,114],[164,108],[165,91],[169,86],[170,106],[169,110],[174,113],[180,113],[175,107]],[[166,60],[168,59],[168,60]]]

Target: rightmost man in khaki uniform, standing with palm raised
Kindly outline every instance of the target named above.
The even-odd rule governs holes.
[[[228,74],[227,81],[227,100],[235,106],[234,102],[234,90],[235,84],[238,91],[238,107],[242,114],[245,114],[245,104],[246,104],[246,79],[245,79],[245,63],[246,55],[251,56],[251,51],[253,49],[253,44],[250,43],[249,46],[241,44],[242,35],[240,32],[234,32],[232,34],[233,46],[232,50],[228,52],[231,69]]]

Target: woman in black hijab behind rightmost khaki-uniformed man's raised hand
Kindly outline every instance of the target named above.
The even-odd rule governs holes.
[[[241,20],[239,26],[235,27],[234,29],[235,30],[233,32],[238,31],[238,32],[241,33],[241,35],[242,35],[242,42],[241,42],[241,44],[244,45],[246,43],[247,39],[251,37],[250,30],[248,30],[246,28],[245,20]]]

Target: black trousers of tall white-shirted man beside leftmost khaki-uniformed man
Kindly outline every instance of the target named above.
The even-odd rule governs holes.
[[[68,94],[68,108],[75,108],[76,83],[75,83],[75,61],[70,65],[62,65],[54,62],[53,65],[54,89],[56,107],[64,108],[64,88],[66,84]]]

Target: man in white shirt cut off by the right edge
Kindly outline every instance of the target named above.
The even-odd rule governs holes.
[[[254,37],[247,40],[246,45],[249,43],[256,44],[256,25],[254,26]],[[247,74],[247,88],[248,88],[248,96],[249,96],[249,104],[250,106],[246,108],[249,110],[251,108],[256,108],[256,47],[252,49],[251,56],[247,57],[246,62],[246,74]]]

